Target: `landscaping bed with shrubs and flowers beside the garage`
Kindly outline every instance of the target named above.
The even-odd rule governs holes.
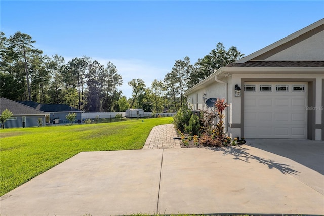
[[[175,129],[183,148],[237,146],[246,143],[244,138],[226,136],[224,111],[229,105],[217,99],[213,109],[191,111],[182,106],[173,117]]]

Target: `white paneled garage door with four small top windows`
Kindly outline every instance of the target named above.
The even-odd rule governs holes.
[[[307,83],[245,83],[245,138],[306,139]]]

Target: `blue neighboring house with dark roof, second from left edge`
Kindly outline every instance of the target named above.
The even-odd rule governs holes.
[[[69,121],[66,119],[66,115],[69,113],[76,113],[76,122],[81,123],[81,113],[83,111],[65,104],[39,104],[33,101],[19,101],[19,103],[49,113],[51,116],[47,122],[48,124],[68,123]]]

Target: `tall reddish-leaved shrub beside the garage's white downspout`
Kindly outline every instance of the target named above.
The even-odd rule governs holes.
[[[225,102],[225,99],[217,99],[216,104],[215,104],[215,107],[216,107],[215,112],[216,112],[218,122],[216,123],[214,135],[222,143],[224,141],[223,118],[225,117],[225,115],[223,114],[223,111],[225,110],[225,108],[227,106],[229,106],[229,105],[227,105],[227,103]]]

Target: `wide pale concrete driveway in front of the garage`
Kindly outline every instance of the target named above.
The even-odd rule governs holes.
[[[1,215],[324,214],[324,142],[82,152],[1,197]]]

